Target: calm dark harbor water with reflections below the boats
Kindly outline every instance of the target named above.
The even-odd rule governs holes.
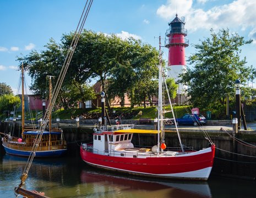
[[[0,197],[15,197],[14,188],[20,183],[26,162],[26,158],[1,152]],[[256,197],[256,183],[252,180],[213,175],[208,182],[141,178],[90,167],[79,156],[35,159],[24,188],[52,198]]]

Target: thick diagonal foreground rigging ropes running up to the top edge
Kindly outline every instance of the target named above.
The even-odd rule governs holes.
[[[89,3],[88,3],[88,1],[89,1]],[[30,156],[28,158],[28,162],[26,163],[26,166],[24,168],[23,174],[21,175],[21,178],[20,178],[21,182],[20,182],[19,187],[23,186],[23,184],[25,183],[26,178],[28,178],[29,169],[30,169],[32,161],[33,161],[33,159],[35,157],[35,153],[37,151],[37,147],[40,144],[43,131],[46,128],[47,120],[50,117],[50,112],[52,112],[53,105],[55,104],[55,101],[57,99],[59,90],[61,89],[61,85],[62,85],[64,77],[65,77],[65,75],[67,73],[67,69],[68,69],[70,61],[71,61],[71,59],[73,57],[75,48],[77,47],[77,43],[79,41],[79,37],[80,37],[81,31],[83,30],[86,18],[88,17],[88,13],[90,11],[92,2],[93,2],[93,0],[87,0],[86,1],[83,13],[81,14],[81,18],[80,18],[78,26],[77,26],[77,30],[75,30],[75,32],[74,32],[72,43],[70,44],[70,47],[68,49],[68,53],[67,53],[66,59],[65,59],[65,61],[63,63],[63,67],[62,67],[61,72],[59,74],[59,78],[57,80],[55,90],[53,90],[53,97],[51,98],[51,101],[50,101],[50,103],[48,105],[48,109],[46,111],[46,114],[43,117],[43,123],[40,126],[39,133],[36,136],[36,141],[35,141],[35,143],[34,143],[34,145],[32,147]]]

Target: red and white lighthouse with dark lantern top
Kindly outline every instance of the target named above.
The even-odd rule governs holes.
[[[184,29],[185,18],[179,19],[178,14],[176,14],[176,18],[168,23],[168,25],[170,27],[165,34],[167,37],[165,47],[169,50],[167,78],[173,78],[177,81],[179,80],[179,74],[186,70],[185,47],[188,46],[188,39],[185,38],[187,36],[187,29]],[[184,89],[186,87],[179,83],[177,90],[178,105],[181,105],[183,101]]]

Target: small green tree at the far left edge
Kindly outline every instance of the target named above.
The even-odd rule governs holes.
[[[0,112],[13,111],[14,106],[18,108],[21,104],[21,100],[18,96],[2,95],[0,96]]]

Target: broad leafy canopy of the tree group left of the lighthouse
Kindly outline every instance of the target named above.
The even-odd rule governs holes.
[[[31,89],[35,94],[47,96],[46,76],[59,75],[73,35],[73,32],[64,34],[61,43],[56,43],[51,38],[45,50],[32,51],[28,56],[18,58],[32,78]],[[84,30],[63,81],[58,101],[61,106],[69,108],[76,105],[75,100],[84,104],[84,101],[93,99],[95,96],[91,94],[91,87],[88,86],[91,79],[100,81],[102,90],[107,97],[109,95],[108,99],[115,96],[123,98],[125,93],[133,92],[134,87],[143,85],[145,100],[145,97],[152,94],[146,89],[157,74],[157,62],[158,52],[155,48],[141,43],[140,40],[122,40],[114,34],[105,35]]]

